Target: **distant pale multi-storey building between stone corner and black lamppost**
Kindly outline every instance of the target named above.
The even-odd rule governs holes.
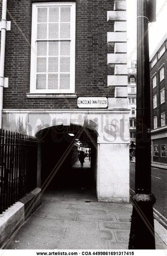
[[[128,76],[128,108],[130,109],[130,118],[129,118],[129,132],[130,132],[130,151],[132,150],[132,142],[136,141],[136,61],[131,62],[131,67],[127,68]]]

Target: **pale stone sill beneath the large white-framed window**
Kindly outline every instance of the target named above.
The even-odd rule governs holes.
[[[76,93],[27,93],[27,98],[77,98]]]

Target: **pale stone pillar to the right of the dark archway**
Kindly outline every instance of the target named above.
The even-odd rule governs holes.
[[[129,144],[99,143],[97,199],[129,202]]]

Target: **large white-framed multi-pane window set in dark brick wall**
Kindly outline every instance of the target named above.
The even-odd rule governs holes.
[[[33,3],[30,93],[74,93],[75,3]]]

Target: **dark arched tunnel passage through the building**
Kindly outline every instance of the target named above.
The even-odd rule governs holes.
[[[41,141],[42,187],[46,185],[49,190],[96,190],[97,134],[93,129],[58,125],[41,130],[37,136]],[[91,157],[87,155],[83,168],[80,168],[78,160],[80,146],[91,151]],[[53,177],[48,182],[52,173]]]

